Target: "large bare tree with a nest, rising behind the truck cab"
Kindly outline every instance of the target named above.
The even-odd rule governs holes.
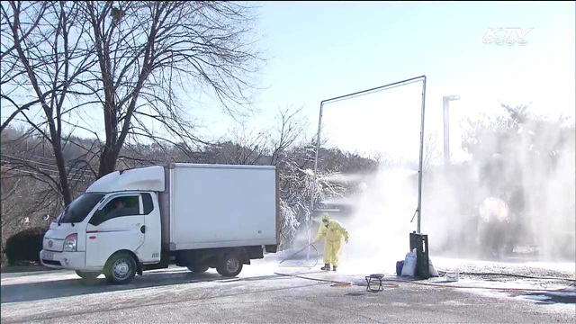
[[[105,143],[98,175],[112,172],[129,136],[156,138],[153,122],[184,148],[197,143],[178,91],[199,86],[234,114],[248,102],[258,60],[250,7],[229,2],[86,2],[98,65]],[[178,86],[180,85],[180,86]]]

